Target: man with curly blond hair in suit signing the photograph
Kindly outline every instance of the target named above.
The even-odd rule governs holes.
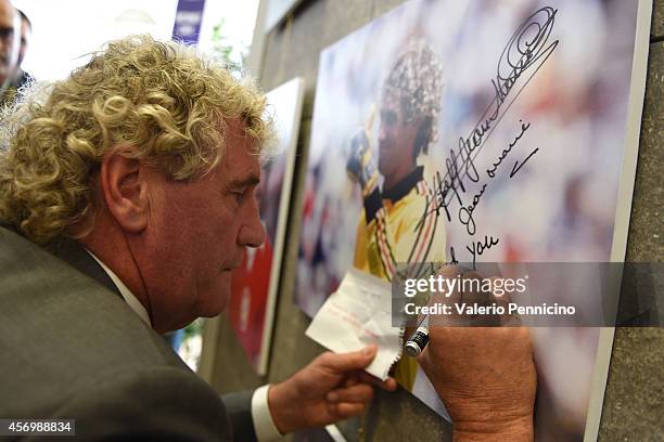
[[[112,42],[2,118],[0,416],[87,439],[270,440],[363,412],[375,348],[224,401],[158,335],[226,308],[272,135],[265,98],[192,49]]]

